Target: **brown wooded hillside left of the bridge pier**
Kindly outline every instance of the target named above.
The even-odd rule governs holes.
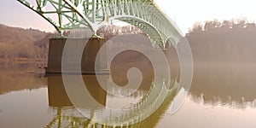
[[[0,58],[45,58],[52,33],[0,24]]]

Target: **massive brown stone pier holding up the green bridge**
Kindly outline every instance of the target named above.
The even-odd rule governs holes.
[[[95,74],[95,61],[96,61],[96,55],[101,49],[102,45],[106,42],[106,39],[104,38],[90,38],[84,39],[84,38],[68,38],[68,40],[72,40],[73,45],[75,46],[71,51],[75,51],[76,49],[81,49],[84,47],[85,41],[88,41],[84,48],[84,52],[82,55],[82,58],[80,61],[70,61],[71,66],[73,64],[81,64],[81,72],[83,74]],[[67,38],[50,38],[49,39],[49,55],[48,55],[48,65],[46,68],[46,74],[55,74],[55,73],[62,73],[61,72],[61,58],[64,46],[66,44]],[[104,51],[106,52],[106,50]],[[102,54],[106,55],[106,54]],[[101,59],[101,62],[99,62],[99,66],[96,66],[97,69],[100,69],[100,71],[97,71],[99,73],[109,73],[109,70],[107,69],[107,57],[102,56],[104,59]],[[78,57],[78,55],[75,54],[75,52],[71,52],[70,55],[67,55],[67,57]],[[70,59],[69,59],[70,60]],[[77,59],[74,59],[77,60]],[[79,69],[71,68],[68,71],[63,71],[67,73],[79,73]]]

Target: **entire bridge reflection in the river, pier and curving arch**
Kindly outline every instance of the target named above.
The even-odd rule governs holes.
[[[108,79],[108,76],[106,76]],[[84,83],[90,91],[90,94],[96,99],[97,102],[100,102],[102,105],[107,106],[108,98],[113,98],[113,96],[108,96],[107,92],[101,88],[96,80],[96,76],[83,76]],[[106,79],[106,80],[107,80]],[[147,79],[148,80],[148,79]],[[154,82],[153,82],[154,83]],[[144,100],[148,100],[146,96],[147,93],[154,93],[154,88],[150,86],[157,86],[157,84],[143,84],[142,87],[137,90],[136,93],[132,94],[131,99],[139,98],[139,102],[135,104],[142,104]],[[177,87],[177,83],[175,86]],[[110,90],[111,91],[111,90]],[[113,90],[116,91],[116,90]],[[172,93],[171,93],[172,92]],[[160,120],[161,115],[166,112],[172,98],[174,97],[174,91],[170,91],[170,94],[167,94],[165,101],[161,104],[155,113],[149,116],[147,119],[143,120],[140,123],[135,125],[124,124],[126,127],[140,126],[140,127],[151,127],[156,125]],[[62,83],[61,76],[49,76],[48,77],[48,94],[49,94],[49,107],[56,110],[57,113],[55,118],[49,122],[47,127],[107,127],[107,125],[98,125],[96,122],[91,122],[90,119],[82,117],[73,107],[72,102],[69,100],[67,93]],[[114,101],[113,101],[114,102]],[[122,102],[120,102],[122,104]],[[154,111],[154,109],[152,109]],[[114,115],[113,115],[114,116]],[[128,116],[128,115],[127,115]],[[114,127],[109,126],[108,127]]]

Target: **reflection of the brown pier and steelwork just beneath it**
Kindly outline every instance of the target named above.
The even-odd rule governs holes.
[[[61,76],[48,76],[49,107],[56,111],[55,118],[46,127],[88,127],[90,119],[84,118],[73,106]],[[97,102],[106,106],[107,92],[101,88],[96,76],[83,76],[86,88]]]

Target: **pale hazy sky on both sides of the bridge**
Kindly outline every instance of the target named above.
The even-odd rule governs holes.
[[[256,20],[255,0],[155,0],[161,9],[176,21],[183,32],[195,22],[205,20],[230,20],[245,17]],[[9,26],[37,28],[47,32],[55,29],[38,14],[16,0],[1,0],[0,23]]]

